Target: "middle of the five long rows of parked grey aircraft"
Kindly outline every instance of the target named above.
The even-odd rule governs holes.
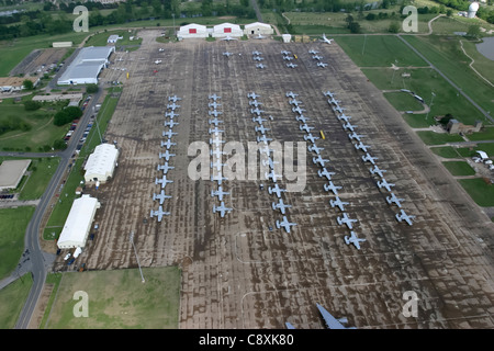
[[[257,141],[263,144],[262,147],[259,149],[261,158],[263,158],[261,162],[262,166],[269,166],[270,169],[269,172],[265,173],[265,177],[267,179],[271,179],[272,182],[274,183],[273,186],[268,186],[268,192],[270,194],[274,193],[279,199],[278,203],[277,202],[271,203],[271,207],[273,211],[280,210],[281,214],[283,215],[282,220],[277,219],[276,226],[278,229],[284,228],[287,233],[290,233],[290,227],[296,226],[296,223],[289,222],[285,216],[287,208],[290,208],[291,205],[287,205],[285,203],[283,203],[283,199],[281,199],[281,193],[285,192],[287,190],[279,188],[277,183],[277,180],[281,179],[282,176],[274,172],[274,165],[278,162],[273,161],[272,158],[270,157],[271,150],[269,149],[268,141],[271,141],[272,138],[268,138],[266,136],[266,132],[270,131],[270,128],[266,128],[265,125],[262,124],[262,122],[266,122],[268,120],[261,117],[261,113],[263,113],[265,111],[259,109],[259,106],[262,105],[262,103],[257,100],[259,95],[256,94],[256,92],[250,92],[247,94],[247,98],[251,99],[249,100],[249,105],[255,106],[254,109],[252,107],[250,109],[250,113],[256,115],[255,117],[252,117],[252,122],[257,123],[257,125],[254,128],[256,132],[260,133],[260,136],[257,136]],[[269,120],[272,121],[273,117],[270,115]]]

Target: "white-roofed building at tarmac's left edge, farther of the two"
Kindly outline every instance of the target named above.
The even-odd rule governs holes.
[[[96,147],[85,166],[86,182],[104,183],[116,167],[119,149],[112,144],[100,144]]]

